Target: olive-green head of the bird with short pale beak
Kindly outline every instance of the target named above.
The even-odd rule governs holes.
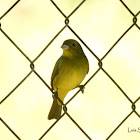
[[[64,56],[79,56],[84,54],[81,45],[74,39],[65,40],[61,48],[63,49]]]

